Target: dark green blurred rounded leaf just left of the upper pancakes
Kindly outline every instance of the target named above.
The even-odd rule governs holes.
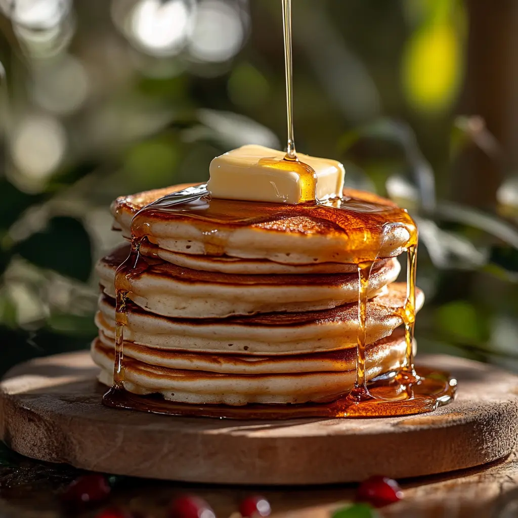
[[[16,252],[36,266],[54,270],[66,277],[83,282],[90,277],[90,236],[82,223],[74,218],[52,218],[44,231],[19,243]]]

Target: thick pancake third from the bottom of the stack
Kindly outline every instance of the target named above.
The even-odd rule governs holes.
[[[402,324],[405,300],[406,284],[392,283],[386,293],[367,302],[366,343],[390,336]],[[416,310],[423,301],[423,292],[416,290]],[[96,324],[110,339],[115,337],[114,313],[114,300],[101,295]],[[150,348],[270,356],[353,348],[357,328],[357,304],[226,319],[172,319],[128,303],[124,337]]]

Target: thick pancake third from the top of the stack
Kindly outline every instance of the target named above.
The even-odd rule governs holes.
[[[104,292],[115,297],[117,267],[127,258],[123,245],[104,257],[97,274]],[[358,297],[357,274],[239,275],[184,268],[142,257],[139,274],[126,276],[120,289],[138,306],[174,318],[220,318],[269,312],[328,309],[351,303]],[[369,280],[373,297],[396,280],[396,258],[379,261]]]

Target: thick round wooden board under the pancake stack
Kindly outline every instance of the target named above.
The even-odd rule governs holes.
[[[433,413],[386,419],[229,421],[102,406],[88,352],[35,359],[0,385],[0,433],[43,461],[137,477],[226,484],[328,484],[376,473],[417,477],[481,465],[518,438],[518,377],[451,356],[456,400]]]

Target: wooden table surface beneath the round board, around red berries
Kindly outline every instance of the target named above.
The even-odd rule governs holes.
[[[32,461],[3,447],[0,450],[0,518],[57,518],[67,516],[59,494],[81,472],[65,465]],[[404,499],[380,510],[384,517],[511,518],[518,516],[518,454],[478,469],[400,481]],[[73,513],[95,516],[107,506],[143,512],[146,518],[165,518],[169,500],[181,493],[203,496],[218,518],[228,518],[239,501],[260,492],[272,505],[274,518],[327,518],[352,500],[355,485],[261,488],[206,486],[119,478],[103,505]]]

